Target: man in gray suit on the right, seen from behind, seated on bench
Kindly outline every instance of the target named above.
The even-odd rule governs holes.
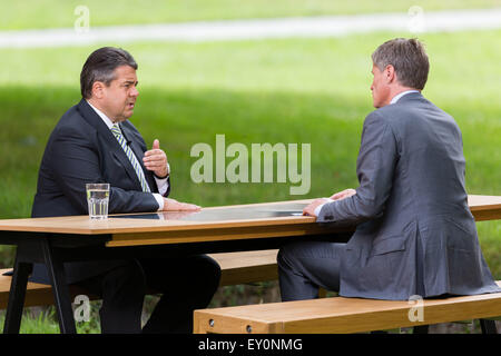
[[[390,40],[372,60],[376,110],[363,127],[360,187],[304,209],[318,222],[354,224],[355,234],[347,244],[282,248],[282,299],[315,298],[318,287],[394,300],[500,291],[468,207],[461,131],[421,95],[430,67],[422,43]]]

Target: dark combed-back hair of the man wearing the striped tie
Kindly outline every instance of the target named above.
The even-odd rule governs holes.
[[[81,96],[85,99],[92,96],[95,81],[109,86],[115,79],[115,69],[120,66],[129,66],[136,70],[138,67],[132,56],[121,48],[102,47],[90,53],[80,73]]]

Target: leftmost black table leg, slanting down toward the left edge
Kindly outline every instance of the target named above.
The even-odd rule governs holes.
[[[4,334],[19,334],[22,308],[24,307],[26,288],[32,267],[32,264],[16,260],[13,276],[10,283],[6,322],[3,324]]]

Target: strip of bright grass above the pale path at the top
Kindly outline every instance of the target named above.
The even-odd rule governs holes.
[[[89,9],[90,26],[181,22],[220,19],[277,18],[371,12],[407,12],[412,6],[424,11],[500,7],[500,0],[27,0],[1,1],[0,29],[73,27]]]

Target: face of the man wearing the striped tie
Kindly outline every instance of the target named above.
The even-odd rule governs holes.
[[[115,79],[104,86],[100,100],[104,112],[114,122],[125,121],[134,113],[139,91],[137,91],[136,69],[120,66],[115,69]]]

